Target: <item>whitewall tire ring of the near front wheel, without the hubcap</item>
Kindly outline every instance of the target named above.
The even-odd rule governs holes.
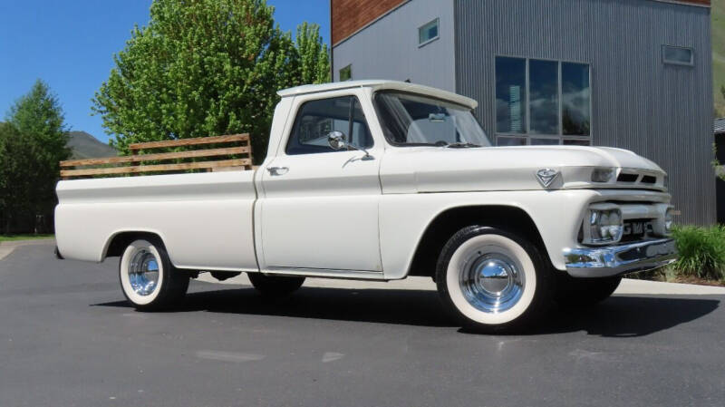
[[[507,255],[524,277],[524,291],[516,305],[498,314],[479,310],[463,296],[459,284],[461,265],[472,251]],[[546,270],[536,247],[525,239],[497,228],[474,226],[461,229],[443,248],[437,266],[438,288],[444,303],[467,326],[504,329],[522,324],[540,308],[546,290]]]

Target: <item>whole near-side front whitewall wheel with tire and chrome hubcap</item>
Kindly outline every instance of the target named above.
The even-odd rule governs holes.
[[[443,304],[476,331],[530,325],[550,304],[550,266],[536,246],[498,228],[471,226],[440,253],[436,285]]]

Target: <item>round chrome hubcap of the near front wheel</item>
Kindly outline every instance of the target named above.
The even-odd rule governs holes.
[[[517,305],[526,281],[517,263],[507,255],[477,252],[464,264],[459,283],[470,305],[498,314]]]

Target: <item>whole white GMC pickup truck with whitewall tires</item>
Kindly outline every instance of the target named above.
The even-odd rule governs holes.
[[[492,147],[477,102],[411,83],[279,94],[256,170],[60,181],[59,257],[121,257],[140,310],[199,272],[246,272],[265,295],[430,276],[462,324],[499,330],[677,256],[667,176],[631,151]]]

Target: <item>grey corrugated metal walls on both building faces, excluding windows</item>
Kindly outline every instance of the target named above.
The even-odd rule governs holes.
[[[497,55],[588,63],[593,144],[660,164],[682,211],[678,221],[710,224],[716,219],[710,8],[700,6],[708,0],[689,2],[697,5],[411,0],[334,45],[334,79],[352,63],[353,79],[411,79],[465,94],[480,103],[476,114],[494,139]],[[436,17],[440,38],[419,47],[418,27]],[[694,66],[663,64],[664,44],[691,47]]]

